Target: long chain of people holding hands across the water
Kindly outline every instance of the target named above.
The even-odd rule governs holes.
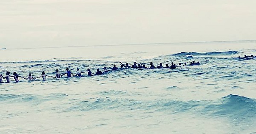
[[[187,66],[187,63],[179,63],[179,65],[176,65],[172,62],[172,65],[169,66],[169,64],[166,64],[166,66],[163,66],[163,63],[160,63],[159,66],[154,66],[153,63],[151,62],[150,63],[150,66],[147,68],[145,66],[145,64],[138,64],[136,62],[134,62],[134,64],[132,66],[129,66],[128,63],[126,63],[125,65],[121,62],[120,63],[120,69],[124,69],[124,68],[138,68],[138,69],[155,69],[155,68],[171,68],[171,69],[176,69],[176,67],[179,67],[179,66]],[[194,66],[194,65],[200,65],[199,62],[195,62],[195,61],[192,61],[189,66]],[[87,69],[87,74],[88,76],[92,76],[92,75],[101,75],[103,73],[107,73],[108,71],[116,71],[118,70],[119,68],[116,67],[116,65],[113,65],[113,68],[111,68],[111,70],[108,70],[107,67],[104,67],[102,68],[104,71],[100,71],[100,69],[98,68],[97,69],[97,72],[96,73],[93,73],[90,71],[90,68]],[[38,79],[38,78],[42,78],[44,81],[47,80],[46,77],[52,77],[52,78],[61,78],[62,76],[64,75],[67,75],[67,77],[82,77],[81,73],[85,73],[85,72],[82,72],[81,70],[79,70],[79,68],[76,69],[76,74],[73,74],[69,68],[66,68],[66,72],[64,74],[61,74],[59,72],[58,69],[55,70],[55,76],[50,76],[50,75],[47,75],[45,74],[44,71],[42,71],[42,74],[41,76],[39,77],[33,77],[31,73],[28,74],[28,77],[22,77],[22,76],[19,76],[16,72],[13,72],[13,75],[11,75],[11,72],[9,71],[6,71],[6,76],[4,77],[3,74],[0,74],[0,83],[4,83],[3,82],[3,79],[6,79],[6,83],[10,83],[10,77],[13,77],[15,82],[19,82],[19,77],[20,78],[23,78],[25,80],[35,80],[35,79]]]

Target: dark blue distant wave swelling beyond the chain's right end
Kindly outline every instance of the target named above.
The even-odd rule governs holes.
[[[201,55],[232,55],[232,54],[239,54],[239,51],[217,51],[217,52],[206,52],[206,53],[198,53],[198,52],[180,52],[177,54],[172,54],[171,56],[187,56],[187,55],[194,55],[194,56],[201,56]]]

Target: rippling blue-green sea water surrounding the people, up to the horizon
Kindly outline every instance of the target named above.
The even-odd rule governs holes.
[[[0,50],[0,71],[39,77],[96,72],[119,61],[177,69],[119,69],[87,77],[0,84],[0,134],[255,134],[256,41]],[[182,64],[184,65],[184,64]]]

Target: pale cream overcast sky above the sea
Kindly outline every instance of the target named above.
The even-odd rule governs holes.
[[[256,0],[0,0],[0,48],[256,40]]]

